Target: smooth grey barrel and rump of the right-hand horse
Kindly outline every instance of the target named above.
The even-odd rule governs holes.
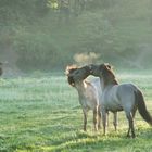
[[[112,112],[131,109],[135,104],[135,91],[137,89],[132,84],[109,86],[103,91],[102,104]]]

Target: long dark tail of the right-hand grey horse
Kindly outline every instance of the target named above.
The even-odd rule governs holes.
[[[152,116],[150,115],[150,113],[147,110],[143,94],[140,90],[137,90],[136,98],[137,98],[137,105],[138,105],[138,111],[140,113],[140,115],[143,117],[143,119],[147,123],[149,123],[152,126]]]

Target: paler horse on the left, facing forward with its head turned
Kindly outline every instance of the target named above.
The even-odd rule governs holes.
[[[74,66],[66,67],[66,75],[68,84],[76,88],[79,96],[79,103],[84,113],[84,130],[87,126],[87,113],[89,110],[93,111],[93,126],[94,130],[100,127],[101,114],[99,111],[99,96],[94,86],[100,85],[99,80],[86,81],[85,78],[89,76],[89,67],[77,68]]]

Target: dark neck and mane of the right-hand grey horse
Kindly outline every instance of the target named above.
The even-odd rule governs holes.
[[[113,85],[118,84],[118,81],[115,78],[115,74],[110,65],[105,65],[102,73],[103,73],[104,86],[109,84],[113,84]]]

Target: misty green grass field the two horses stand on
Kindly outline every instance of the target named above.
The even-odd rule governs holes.
[[[144,94],[152,114],[152,75],[117,75],[132,81]],[[89,113],[87,132],[77,92],[65,76],[0,79],[0,152],[152,152],[152,128],[137,113],[137,138],[126,138],[128,128],[123,112],[115,132],[110,114],[106,136],[93,131]]]

